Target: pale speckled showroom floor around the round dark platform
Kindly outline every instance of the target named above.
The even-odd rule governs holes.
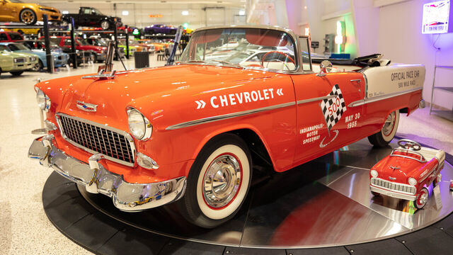
[[[164,62],[156,62],[154,66]],[[134,60],[126,62],[134,67]],[[21,77],[0,76],[0,254],[91,254],[64,237],[47,220],[42,209],[42,187],[51,174],[27,152],[36,137],[30,130],[40,128],[40,115],[33,85],[36,79],[53,79],[96,72],[98,64],[56,74],[26,72]],[[120,62],[115,68],[122,70]],[[398,134],[453,154],[453,123],[429,109],[401,115]]]

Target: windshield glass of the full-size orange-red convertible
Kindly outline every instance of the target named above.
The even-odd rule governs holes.
[[[294,42],[287,33],[263,28],[220,28],[195,32],[180,62],[277,71],[297,68]]]

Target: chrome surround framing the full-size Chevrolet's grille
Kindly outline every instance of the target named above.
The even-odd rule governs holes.
[[[88,149],[87,147],[79,145],[78,143],[74,142],[73,140],[69,139],[69,137],[64,135],[62,121],[60,120],[59,116],[64,116],[66,118],[71,118],[73,120],[78,120],[78,121],[80,121],[82,123],[88,123],[90,125],[94,125],[94,126],[99,127],[99,128],[104,128],[106,130],[110,130],[110,131],[113,131],[113,132],[117,132],[120,135],[124,135],[126,140],[127,140],[127,142],[129,142],[130,148],[132,150],[132,159],[134,160],[134,162],[137,161],[136,153],[135,153],[135,152],[137,152],[137,149],[135,148],[134,139],[132,139],[132,136],[129,133],[125,132],[124,130],[119,130],[119,129],[116,129],[116,128],[112,128],[112,127],[110,127],[108,125],[95,123],[95,122],[93,122],[91,120],[86,120],[86,119],[83,119],[83,118],[74,117],[74,116],[71,116],[71,115],[67,115],[65,113],[56,113],[55,114],[55,119],[57,119],[57,123],[58,123],[58,126],[59,126],[59,131],[60,131],[62,137],[64,138],[64,140],[67,140],[67,142],[69,142],[71,145],[74,145],[75,147],[83,149],[84,151],[86,151],[88,153],[91,153],[91,154],[99,154],[99,152],[93,151],[92,149]],[[105,154],[103,154],[103,155],[104,155],[105,159],[108,159],[110,161],[116,162],[118,164],[123,164],[125,166],[134,166],[134,163],[125,162],[125,161],[122,161],[120,159],[115,159],[114,157],[110,157],[110,156],[105,155]]]

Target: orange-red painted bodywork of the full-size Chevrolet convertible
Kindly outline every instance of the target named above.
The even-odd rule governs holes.
[[[351,82],[360,79],[362,82]],[[285,171],[323,154],[378,132],[387,115],[400,108],[415,109],[420,91],[384,101],[347,107],[338,123],[327,130],[321,100],[297,105],[297,101],[327,96],[338,84],[345,104],[365,96],[364,78],[355,72],[276,74],[253,69],[180,64],[117,73],[115,79],[95,81],[65,77],[43,81],[37,86],[50,97],[47,119],[65,113],[129,132],[128,106],[137,108],[153,126],[151,139],[134,140],[142,152],[159,164],[159,169],[124,166],[108,160],[101,164],[123,174],[126,181],[149,183],[188,176],[190,166],[212,137],[231,130],[248,129],[260,137],[275,171]],[[82,111],[76,101],[97,105],[96,112]],[[289,103],[289,104],[288,104]],[[260,113],[167,130],[172,125],[213,116],[252,111],[288,104]],[[351,123],[354,123],[353,125]],[[310,127],[317,133],[307,137]],[[301,130],[304,132],[301,133]],[[313,132],[311,130],[310,132]],[[58,132],[55,139],[64,152],[87,162],[88,152],[70,145]],[[318,136],[304,144],[304,140]],[[325,139],[325,140],[323,140]],[[324,141],[324,146],[320,146]]]

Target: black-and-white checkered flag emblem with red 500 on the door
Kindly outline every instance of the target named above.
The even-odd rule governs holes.
[[[341,115],[346,111],[346,104],[338,84],[333,86],[331,93],[327,96],[336,96],[323,99],[321,102],[321,110],[323,111],[326,120],[327,129],[330,131],[333,126],[338,123]]]

